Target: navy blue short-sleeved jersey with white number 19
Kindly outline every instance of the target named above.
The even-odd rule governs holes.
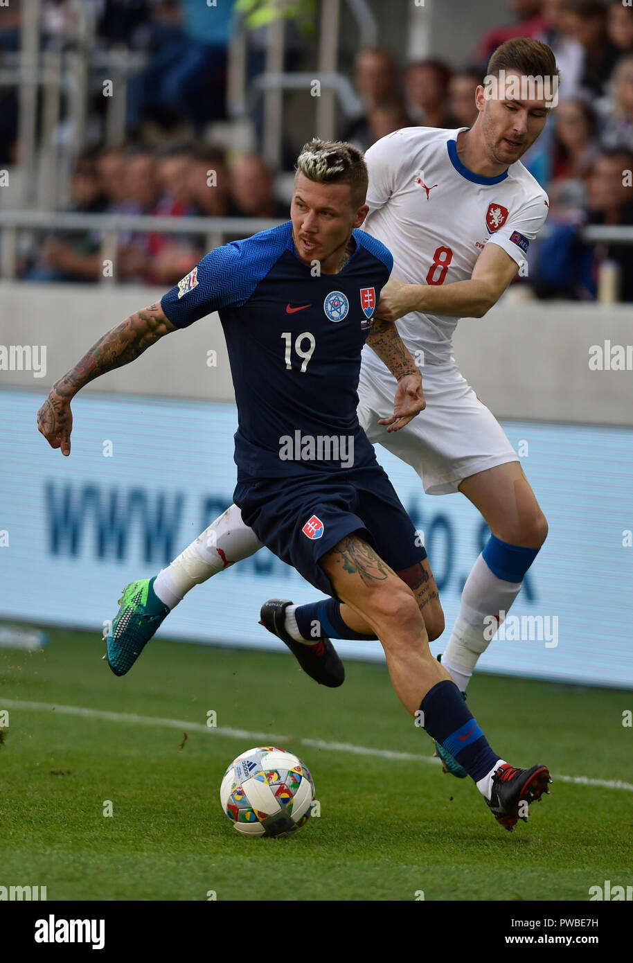
[[[288,221],[216,247],[162,300],[177,327],[219,312],[238,403],[240,480],[375,461],[356,389],[392,255],[355,230],[342,272],[314,276],[291,230]]]

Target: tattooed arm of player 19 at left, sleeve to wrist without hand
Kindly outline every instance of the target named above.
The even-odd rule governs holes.
[[[56,392],[63,398],[72,398],[93,378],[129,364],[173,330],[174,325],[165,317],[159,303],[137,311],[104,334],[81,361],[56,382]]]

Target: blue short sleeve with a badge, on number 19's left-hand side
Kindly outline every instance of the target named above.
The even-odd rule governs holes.
[[[176,327],[188,327],[223,307],[244,304],[254,287],[245,268],[239,244],[215,247],[166,293],[165,317]]]

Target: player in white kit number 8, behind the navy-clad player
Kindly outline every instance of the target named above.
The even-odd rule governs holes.
[[[379,425],[392,411],[395,381],[364,349],[359,421],[372,442],[415,468],[427,494],[461,491],[492,532],[468,575],[442,656],[461,690],[490,644],[490,616],[500,621],[509,611],[547,533],[518,455],[452,355],[458,320],[482,317],[500,298],[547,214],[547,196],[519,157],[537,139],[553,106],[534,91],[523,96],[523,83],[557,74],[553,54],[538,40],[511,39],[494,52],[488,74],[503,75],[506,83],[520,81],[520,97],[501,85],[489,97],[482,85],[471,128],[404,128],[373,144],[366,155],[364,229],[393,255],[392,279],[375,314],[398,321],[402,340],[422,366],[426,408],[398,432]],[[311,224],[311,230],[318,237],[318,227]],[[239,508],[227,509],[153,581],[156,627],[192,586],[259,547]],[[426,601],[424,621],[433,639],[443,631],[437,586],[429,586]],[[317,614],[325,635],[367,638],[360,617],[345,610],[342,618],[333,606],[336,600],[327,612],[320,603],[289,605],[284,631],[296,641],[314,642],[306,627]],[[118,617],[127,616],[121,611]],[[452,767],[442,746],[438,751],[450,771],[466,774]]]

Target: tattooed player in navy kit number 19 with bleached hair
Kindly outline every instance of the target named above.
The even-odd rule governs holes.
[[[420,612],[434,585],[426,552],[356,414],[366,341],[396,379],[388,429],[404,428],[424,405],[418,368],[395,325],[370,325],[392,255],[358,229],[367,215],[367,167],[349,144],[320,141],[306,144],[297,166],[291,221],[216,248],[160,304],[106,334],[54,385],[39,429],[68,454],[70,400],[84,384],[219,311],[238,403],[234,497],[244,523],[366,619],[402,704],[512,829],[527,818],[529,801],[548,791],[549,772],[501,759],[431,655]],[[299,645],[317,681],[341,684],[329,639]],[[116,655],[125,652],[109,652],[114,670]]]

